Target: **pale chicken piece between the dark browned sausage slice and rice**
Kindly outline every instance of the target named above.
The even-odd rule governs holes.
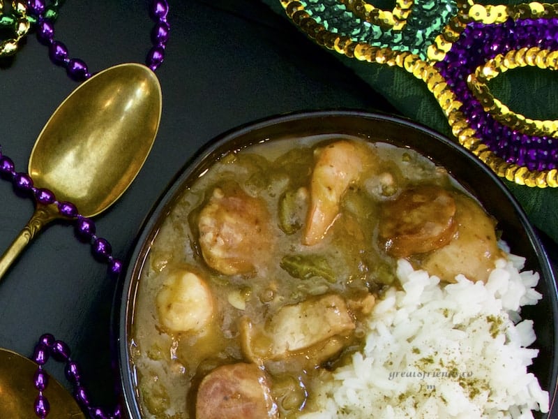
[[[455,282],[458,274],[485,282],[496,260],[504,256],[498,247],[495,220],[472,198],[456,195],[455,203],[457,232],[446,246],[430,253],[421,267],[446,282]]]

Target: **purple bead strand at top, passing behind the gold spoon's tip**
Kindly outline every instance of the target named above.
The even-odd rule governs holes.
[[[85,61],[70,58],[68,47],[62,42],[54,40],[54,20],[60,3],[61,1],[54,0],[49,6],[46,6],[45,0],[28,0],[27,13],[36,19],[37,37],[49,48],[49,56],[54,64],[66,68],[66,73],[73,80],[83,81],[92,75]],[[149,12],[155,26],[151,31],[153,45],[147,53],[146,65],[155,71],[165,59],[165,49],[169,39],[170,26],[167,22],[169,4],[167,0],[153,0]]]

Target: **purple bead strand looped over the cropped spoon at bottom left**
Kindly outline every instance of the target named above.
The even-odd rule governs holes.
[[[82,406],[82,409],[89,414],[93,419],[119,419],[122,416],[121,407],[117,405],[112,413],[107,413],[100,407],[91,406],[89,395],[81,383],[80,369],[77,364],[70,358],[70,348],[63,341],[54,339],[50,333],[39,338],[38,344],[35,346],[33,353],[33,361],[38,365],[33,383],[38,390],[38,396],[35,399],[35,414],[40,419],[45,419],[50,412],[50,403],[45,397],[45,389],[48,385],[48,376],[43,366],[47,363],[49,358],[58,362],[65,362],[64,373],[68,381],[72,383],[74,389],[74,397],[77,402]]]

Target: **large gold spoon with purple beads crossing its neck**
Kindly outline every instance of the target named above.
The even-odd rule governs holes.
[[[54,111],[29,158],[33,186],[91,217],[112,205],[133,182],[155,140],[161,115],[158,79],[141,64],[94,75]],[[36,209],[0,258],[0,279],[38,231],[64,218],[54,204]]]

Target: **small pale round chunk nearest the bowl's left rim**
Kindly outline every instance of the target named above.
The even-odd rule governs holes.
[[[158,318],[171,332],[197,332],[213,318],[213,295],[199,275],[172,270],[156,296]]]

